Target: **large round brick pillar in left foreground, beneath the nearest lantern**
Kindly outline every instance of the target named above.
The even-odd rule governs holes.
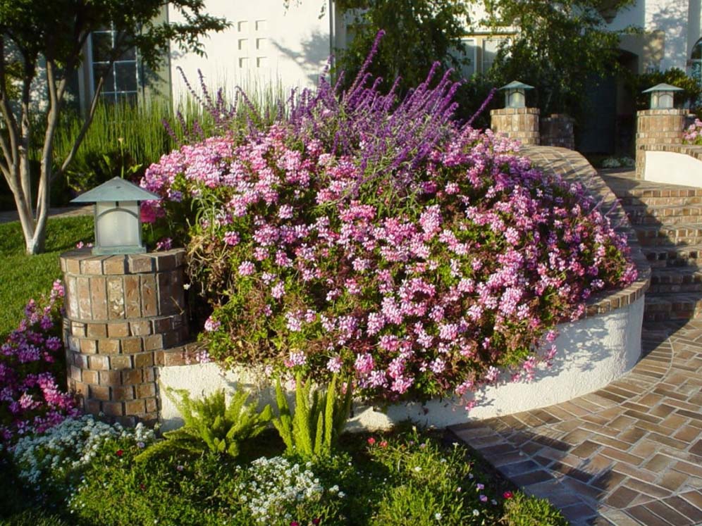
[[[187,338],[183,249],[61,255],[68,387],[87,413],[123,425],[159,416],[156,365]]]

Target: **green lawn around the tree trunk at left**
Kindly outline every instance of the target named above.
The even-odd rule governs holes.
[[[0,224],[0,336],[17,326],[30,298],[48,294],[61,277],[58,255],[93,237],[91,216],[49,219],[47,251],[27,256],[20,223]]]

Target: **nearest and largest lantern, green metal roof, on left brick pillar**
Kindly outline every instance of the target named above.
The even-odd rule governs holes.
[[[95,244],[92,253],[130,254],[146,252],[142,244],[140,201],[161,196],[120,177],[81,194],[71,203],[95,203]]]

